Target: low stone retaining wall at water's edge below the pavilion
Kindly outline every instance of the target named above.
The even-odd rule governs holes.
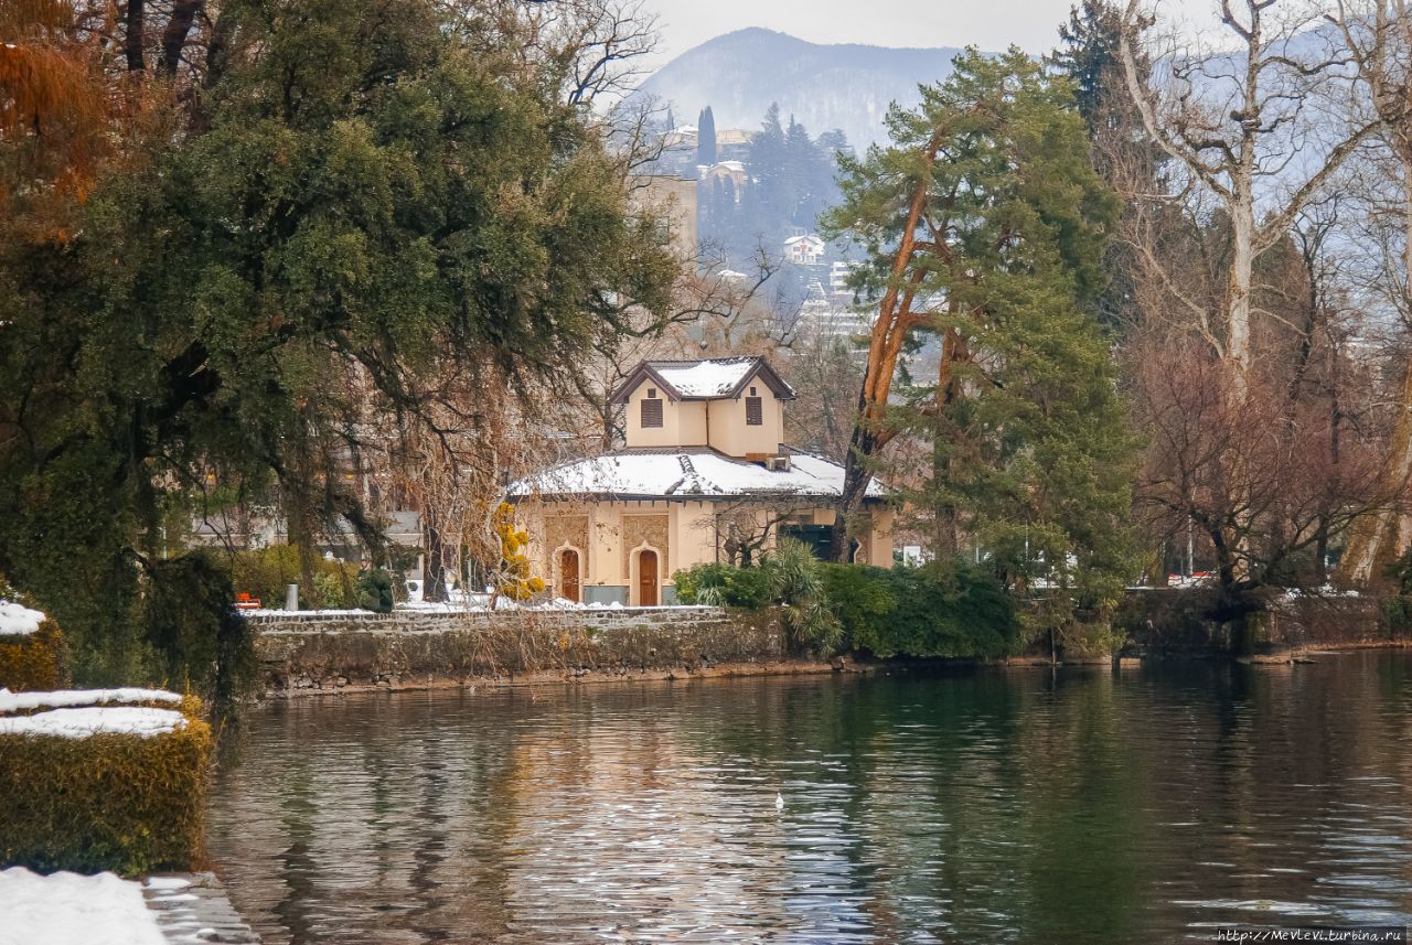
[[[750,671],[788,657],[772,612],[712,606],[275,612],[247,621],[267,695]]]

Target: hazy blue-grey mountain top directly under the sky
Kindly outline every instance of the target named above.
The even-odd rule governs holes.
[[[641,93],[672,106],[681,124],[712,106],[717,128],[757,128],[771,102],[810,133],[842,128],[854,147],[885,138],[888,103],[916,104],[916,86],[943,79],[956,48],[818,45],[772,30],[716,37],[662,66]]]

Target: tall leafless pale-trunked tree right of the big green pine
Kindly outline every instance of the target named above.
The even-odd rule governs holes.
[[[1176,162],[1182,183],[1213,195],[1228,221],[1223,310],[1197,300],[1187,307],[1240,402],[1252,365],[1255,262],[1285,238],[1300,207],[1377,120],[1354,107],[1356,93],[1340,72],[1343,51],[1305,31],[1317,21],[1317,7],[1221,0],[1221,23],[1238,52],[1169,42],[1147,51],[1161,66],[1144,80],[1137,42],[1147,21],[1141,0],[1130,0],[1120,34],[1124,76],[1149,138]],[[1180,274],[1163,275],[1169,286],[1182,285]]]

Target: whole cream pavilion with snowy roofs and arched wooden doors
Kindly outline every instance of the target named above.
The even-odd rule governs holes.
[[[511,485],[531,560],[572,601],[675,602],[672,574],[755,553],[779,535],[820,544],[843,467],[791,449],[794,389],[760,357],[644,361],[610,395],[626,447]],[[892,566],[892,513],[870,484],[854,560]]]

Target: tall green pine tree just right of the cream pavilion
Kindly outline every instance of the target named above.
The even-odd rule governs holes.
[[[933,550],[955,560],[964,536],[1014,585],[1043,575],[1080,605],[1110,605],[1127,577],[1135,447],[1086,309],[1118,202],[1069,85],[1018,49],[969,51],[888,127],[890,148],[843,159],[827,223],[867,247],[860,278],[901,299],[897,329],[940,336],[936,378],[882,419],[932,444],[911,498],[931,509]],[[918,199],[919,243],[895,272]]]

